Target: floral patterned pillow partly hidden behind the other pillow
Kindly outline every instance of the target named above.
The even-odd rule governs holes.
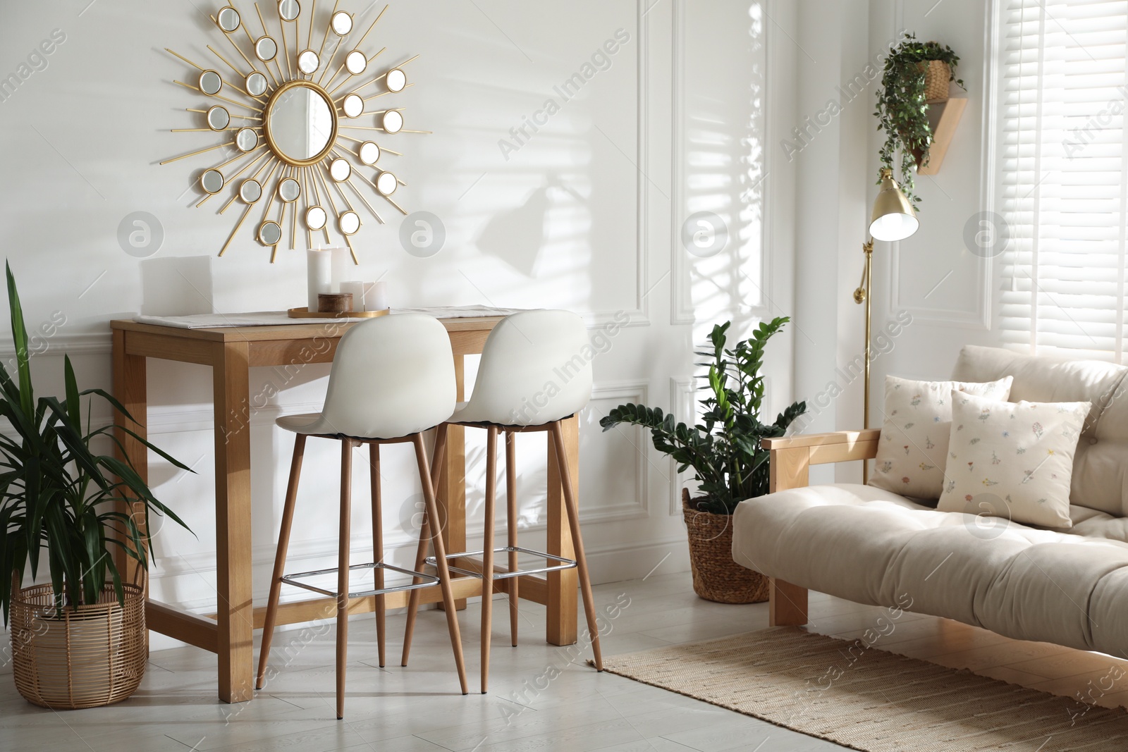
[[[885,421],[870,485],[902,496],[940,498],[944,489],[952,390],[990,399],[1011,396],[1013,378],[986,383],[885,377]]]

